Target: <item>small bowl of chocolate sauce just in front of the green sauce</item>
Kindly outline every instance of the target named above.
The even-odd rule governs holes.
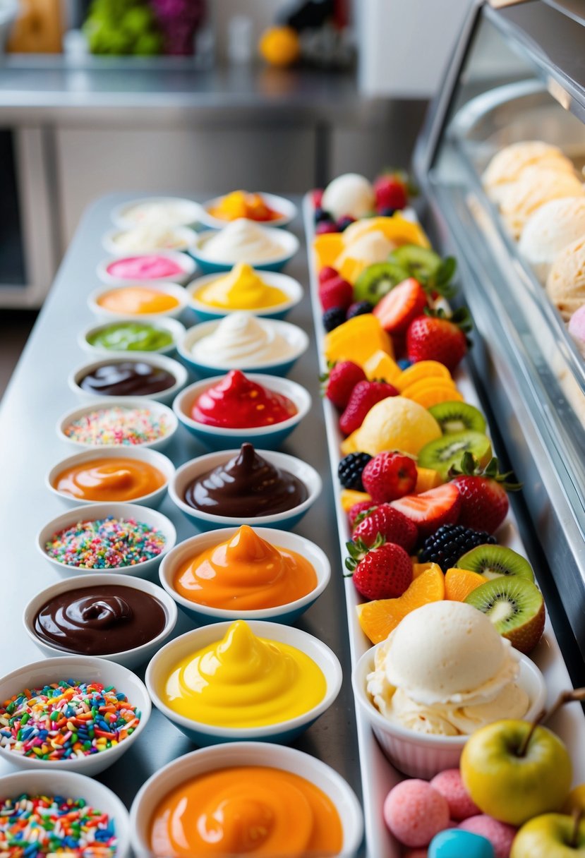
[[[69,387],[84,399],[145,396],[168,404],[187,380],[184,366],[165,354],[112,352],[78,366],[69,376]]]

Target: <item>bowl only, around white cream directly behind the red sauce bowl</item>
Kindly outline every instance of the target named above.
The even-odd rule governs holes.
[[[286,354],[285,357],[270,358],[269,360],[250,364],[250,366],[233,366],[232,360],[229,362],[217,360],[213,364],[203,363],[193,356],[192,349],[197,341],[202,340],[204,336],[213,334],[214,330],[220,324],[220,320],[218,320],[215,322],[202,322],[193,328],[187,329],[184,337],[177,343],[178,355],[192,372],[195,372],[196,375],[202,378],[223,375],[232,369],[239,369],[242,372],[265,372],[268,375],[286,376],[293,368],[295,362],[299,360],[301,354],[305,353],[309,347],[309,337],[302,328],[289,322],[262,318],[260,319],[260,323],[274,329],[276,334],[283,336],[291,345],[291,352]]]

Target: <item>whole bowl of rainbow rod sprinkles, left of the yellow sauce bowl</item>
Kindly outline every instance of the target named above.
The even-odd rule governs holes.
[[[0,758],[25,770],[97,775],[136,742],[151,709],[142,681],[119,664],[33,662],[0,679]]]

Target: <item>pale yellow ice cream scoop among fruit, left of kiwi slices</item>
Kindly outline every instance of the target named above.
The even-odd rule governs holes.
[[[341,444],[344,456],[359,450],[376,456],[383,450],[401,450],[417,456],[419,450],[441,437],[432,414],[404,396],[389,396],[368,411],[359,429]]]

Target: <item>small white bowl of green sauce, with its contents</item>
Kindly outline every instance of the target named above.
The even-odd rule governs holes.
[[[81,331],[79,344],[86,352],[155,352],[172,354],[178,339],[184,335],[184,325],[176,319],[161,318],[156,322],[141,322],[136,318],[121,318],[114,322],[93,324]]]

